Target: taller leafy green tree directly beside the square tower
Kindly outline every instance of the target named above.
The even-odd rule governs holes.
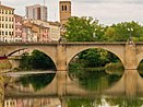
[[[70,17],[65,24],[65,34],[69,41],[94,41],[100,38],[104,27],[93,17]]]

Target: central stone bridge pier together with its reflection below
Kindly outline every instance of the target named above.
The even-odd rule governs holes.
[[[57,46],[57,93],[61,97],[65,95],[67,92],[67,61],[65,61],[65,46],[63,44],[59,44]]]

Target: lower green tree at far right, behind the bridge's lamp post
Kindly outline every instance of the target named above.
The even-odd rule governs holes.
[[[103,40],[127,41],[130,36],[133,40],[143,40],[143,27],[138,22],[122,22],[107,26]]]

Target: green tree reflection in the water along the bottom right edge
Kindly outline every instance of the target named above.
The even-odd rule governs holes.
[[[76,99],[69,99],[68,107],[104,107],[108,104],[111,107],[141,107],[143,105],[143,99],[134,98],[128,99],[123,97],[106,97],[106,98],[76,98]]]

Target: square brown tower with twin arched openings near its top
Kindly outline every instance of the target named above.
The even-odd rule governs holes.
[[[71,1],[60,1],[60,23],[64,25],[69,17],[71,17]]]

